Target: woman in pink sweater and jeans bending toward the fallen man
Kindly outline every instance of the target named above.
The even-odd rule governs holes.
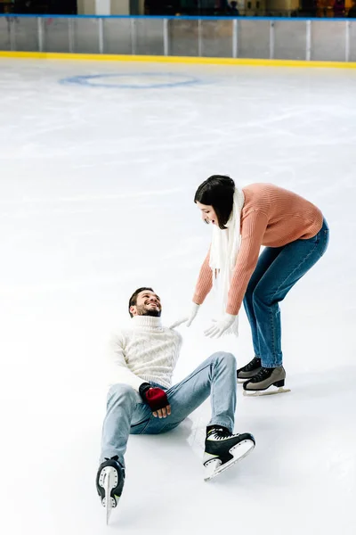
[[[190,316],[183,321],[191,324],[214,285],[222,317],[206,335],[236,333],[243,302],[255,358],[238,370],[238,379],[245,381],[246,393],[281,389],[286,372],[279,302],[327,250],[328,224],[312,202],[295,193],[271,184],[239,190],[230,177],[221,175],[199,185],[194,202],[204,221],[213,224],[213,239],[200,269]],[[260,255],[261,245],[265,248]]]

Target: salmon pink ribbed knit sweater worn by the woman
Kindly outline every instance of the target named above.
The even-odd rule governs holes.
[[[226,312],[239,313],[248,281],[257,264],[261,245],[281,247],[318,234],[323,216],[300,195],[277,185],[252,184],[242,190],[245,204],[241,211],[241,246],[234,268]],[[193,301],[200,305],[212,288],[209,252],[198,276]]]

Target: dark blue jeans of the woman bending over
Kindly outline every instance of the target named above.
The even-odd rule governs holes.
[[[307,240],[266,247],[247,286],[244,307],[255,355],[264,367],[282,366],[279,302],[328,248],[328,224]]]

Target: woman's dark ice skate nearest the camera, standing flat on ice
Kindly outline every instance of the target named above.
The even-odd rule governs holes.
[[[245,396],[266,396],[290,392],[284,388],[286,370],[283,366],[274,368],[262,367],[258,374],[243,384]]]

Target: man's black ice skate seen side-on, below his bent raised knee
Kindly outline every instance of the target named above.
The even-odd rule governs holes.
[[[255,439],[249,432],[231,434],[222,426],[208,428],[203,464],[206,468],[205,481],[246,457],[255,448]]]

